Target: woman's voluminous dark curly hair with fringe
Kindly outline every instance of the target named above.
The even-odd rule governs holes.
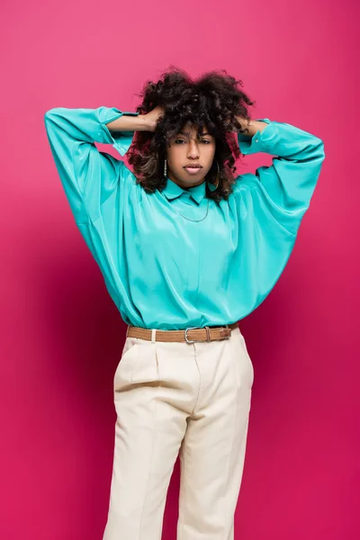
[[[135,131],[129,148],[129,163],[133,166],[137,183],[147,193],[161,191],[166,186],[164,162],[166,147],[184,124],[189,122],[201,135],[207,127],[216,142],[215,155],[207,180],[219,184],[211,191],[206,185],[206,196],[220,202],[232,193],[235,183],[235,160],[241,155],[235,131],[244,133],[236,116],[251,120],[247,107],[256,102],[242,92],[241,80],[227,75],[226,70],[213,70],[192,79],[183,69],[170,67],[157,82],[148,81],[139,95],[142,103],[136,108],[140,114],[160,105],[164,108],[155,131]],[[216,165],[216,162],[219,165]]]

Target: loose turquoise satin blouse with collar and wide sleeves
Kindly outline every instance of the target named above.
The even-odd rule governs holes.
[[[45,113],[49,146],[67,201],[126,324],[147,329],[225,325],[266,299],[284,270],[324,160],[321,139],[265,121],[238,133],[242,154],[266,152],[272,166],[238,175],[228,201],[209,200],[205,182],[146,193],[121,159],[134,131],[111,131],[112,107]],[[209,184],[210,187],[211,184]],[[192,220],[186,220],[178,212]]]

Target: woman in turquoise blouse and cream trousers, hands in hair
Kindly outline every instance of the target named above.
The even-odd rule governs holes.
[[[45,125],[76,225],[128,325],[103,540],[158,540],[180,453],[177,538],[232,540],[254,370],[238,328],[290,257],[321,139],[251,120],[226,72],[148,82],[137,112],[54,108]],[[100,152],[109,143],[129,163]],[[272,166],[234,175],[240,154]]]

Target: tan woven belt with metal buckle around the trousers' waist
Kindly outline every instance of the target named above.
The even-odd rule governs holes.
[[[186,341],[186,343],[195,343],[200,341],[213,341],[214,339],[229,339],[231,330],[238,327],[238,322],[226,324],[220,327],[191,327],[184,330],[155,330],[156,341]],[[140,338],[151,341],[153,335],[152,329],[142,329],[129,325],[126,336],[129,338]]]

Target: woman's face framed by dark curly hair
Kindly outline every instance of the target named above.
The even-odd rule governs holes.
[[[211,168],[215,146],[215,139],[206,128],[198,139],[196,128],[186,124],[167,148],[166,175],[184,188],[202,184]],[[190,165],[200,165],[200,168],[186,168]]]

